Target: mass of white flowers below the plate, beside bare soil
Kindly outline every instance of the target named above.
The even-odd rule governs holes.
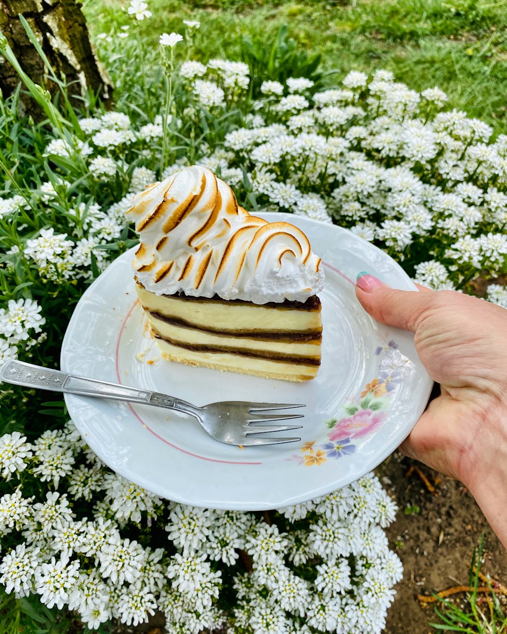
[[[32,444],[19,432],[0,437],[0,469],[13,478],[0,498],[6,592],[66,606],[91,630],[111,619],[136,626],[158,610],[169,631],[185,634],[382,631],[402,567],[383,531],[396,507],[373,474],[270,512],[268,523],[166,503],[110,472],[77,437],[71,422]],[[28,488],[37,493],[23,495]],[[84,515],[79,500],[92,493],[101,501]],[[167,546],[154,549],[151,536],[164,529]]]

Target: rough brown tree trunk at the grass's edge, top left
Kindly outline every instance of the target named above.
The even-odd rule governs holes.
[[[75,0],[0,0],[0,30],[30,79],[55,94],[54,82],[44,77],[44,63],[18,18],[22,13],[46,53],[57,77],[65,76],[69,97],[93,89],[103,100],[112,84],[94,53],[84,15]],[[4,97],[13,93],[19,77],[10,63],[0,64],[0,89]],[[24,102],[27,113],[33,103]]]

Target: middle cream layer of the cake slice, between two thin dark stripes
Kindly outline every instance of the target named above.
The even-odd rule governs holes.
[[[189,347],[201,346],[213,349],[214,351],[242,352],[258,356],[274,357],[284,355],[286,358],[311,358],[314,361],[320,359],[320,339],[309,341],[291,340],[286,335],[279,335],[278,339],[255,339],[248,337],[235,337],[234,335],[224,335],[206,332],[198,328],[186,328],[174,323],[168,323],[158,318],[155,314],[148,313],[148,320],[151,327],[163,339],[169,340],[175,345]]]

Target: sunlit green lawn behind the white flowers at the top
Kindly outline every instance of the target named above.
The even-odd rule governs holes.
[[[281,25],[303,48],[318,50],[326,70],[392,70],[414,89],[439,86],[453,108],[507,129],[507,0],[148,0],[138,22],[127,0],[85,0],[93,36],[131,25],[129,37],[157,48],[162,32],[202,23],[193,57],[240,58],[243,36],[273,39]],[[137,34],[136,34],[137,32]],[[181,46],[181,45],[180,45]],[[184,47],[179,55],[184,55]],[[125,68],[128,62],[125,60]]]

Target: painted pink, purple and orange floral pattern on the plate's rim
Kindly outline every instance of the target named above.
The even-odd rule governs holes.
[[[375,354],[379,358],[376,377],[364,385],[356,398],[343,404],[340,418],[331,418],[324,423],[329,429],[328,441],[307,441],[300,454],[293,454],[286,460],[305,467],[320,466],[356,453],[359,443],[382,429],[408,359],[402,356],[392,339],[379,346]]]

